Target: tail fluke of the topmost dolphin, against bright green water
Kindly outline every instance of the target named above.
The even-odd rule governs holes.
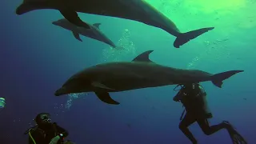
[[[192,30],[186,33],[178,35],[174,41],[174,47],[179,48],[179,46],[184,45],[186,42],[189,42],[191,39],[197,38],[199,35],[206,33],[209,30],[213,30],[214,27],[206,27],[198,30]]]

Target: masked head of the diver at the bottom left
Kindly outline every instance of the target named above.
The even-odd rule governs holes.
[[[49,126],[51,125],[51,119],[49,113],[40,113],[34,118],[38,126]]]

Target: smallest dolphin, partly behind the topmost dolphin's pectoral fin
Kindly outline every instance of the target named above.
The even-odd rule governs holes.
[[[113,48],[117,48],[115,46],[114,42],[110,40],[110,38],[107,38],[105,34],[102,33],[99,26],[101,23],[94,23],[93,25],[90,25],[87,23],[87,25],[90,26],[90,29],[85,29],[84,27],[79,27],[74,25],[73,23],[69,22],[66,18],[59,19],[58,21],[52,22],[55,26],[60,26],[66,30],[72,31],[74,38],[76,38],[78,41],[82,42],[82,39],[80,38],[80,34],[83,36],[86,36],[88,38],[96,39],[100,42],[105,42],[106,44],[112,46]]]

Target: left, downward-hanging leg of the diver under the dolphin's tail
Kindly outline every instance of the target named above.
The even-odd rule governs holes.
[[[196,122],[196,118],[194,118],[192,114],[186,113],[186,115],[182,119],[182,122],[179,123],[178,127],[180,130],[182,130],[182,133],[185,134],[186,137],[189,138],[191,142],[193,142],[193,144],[196,144],[198,143],[197,140],[194,138],[193,134],[188,129],[188,127],[194,122]]]

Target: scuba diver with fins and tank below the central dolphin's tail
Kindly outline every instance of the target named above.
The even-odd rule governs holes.
[[[178,86],[181,86],[179,91],[176,90]],[[182,102],[185,107],[180,118],[179,129],[182,130],[182,133],[185,134],[193,144],[197,144],[198,142],[188,127],[194,122],[198,122],[198,125],[206,135],[226,129],[234,144],[247,144],[246,140],[242,138],[242,135],[238,134],[238,131],[234,130],[234,127],[230,125],[230,122],[223,121],[218,125],[210,126],[208,118],[213,118],[213,115],[206,102],[206,91],[199,83],[186,83],[178,86],[174,88],[174,91],[178,91],[178,94],[174,96],[173,100],[175,102]],[[186,114],[183,118],[185,111]]]

